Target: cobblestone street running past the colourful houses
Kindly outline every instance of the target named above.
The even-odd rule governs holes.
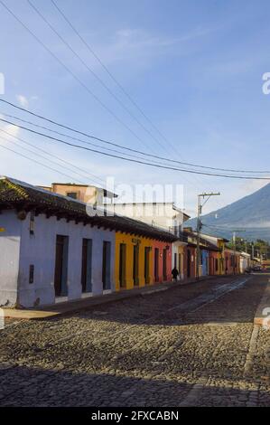
[[[0,331],[2,406],[269,406],[268,277],[208,279]]]

